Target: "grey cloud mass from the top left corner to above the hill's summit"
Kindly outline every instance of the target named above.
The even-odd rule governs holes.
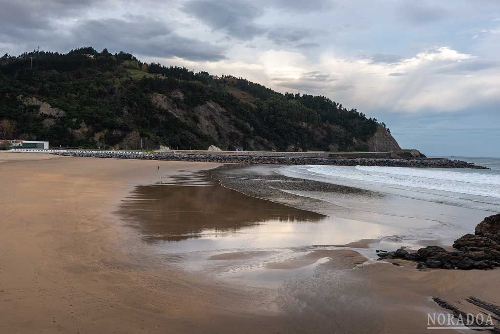
[[[97,5],[95,0],[2,1],[1,5],[0,42],[14,45],[19,53],[38,45],[54,51],[92,45],[145,56],[207,61],[225,58],[224,47],[183,37],[149,16],[80,18],[71,28],[57,23],[59,17],[81,16],[81,11]]]

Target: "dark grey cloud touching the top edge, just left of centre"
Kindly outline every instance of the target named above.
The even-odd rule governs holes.
[[[265,32],[265,29],[253,23],[263,14],[263,10],[248,1],[234,0],[191,0],[182,6],[182,10],[201,20],[213,30],[249,40]]]

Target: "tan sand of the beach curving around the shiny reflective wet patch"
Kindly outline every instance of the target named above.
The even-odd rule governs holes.
[[[442,312],[430,296],[463,311],[477,311],[464,301],[471,295],[500,303],[500,270],[359,265],[352,250],[274,264],[330,258],[278,291],[219,284],[158,265],[112,213],[136,184],[215,164],[15,153],[0,161],[0,333],[421,333],[426,313]]]

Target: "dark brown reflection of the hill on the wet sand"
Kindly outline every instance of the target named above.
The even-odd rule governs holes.
[[[196,238],[203,231],[236,232],[267,220],[314,222],[325,218],[227,189],[206,173],[169,180],[167,185],[137,186],[119,212],[151,241]]]

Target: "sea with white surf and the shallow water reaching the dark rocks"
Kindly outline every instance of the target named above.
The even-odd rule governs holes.
[[[457,237],[473,233],[485,216],[500,212],[500,158],[447,158],[490,169],[294,165],[274,171],[288,177],[367,190],[371,195],[288,192],[346,208],[351,217],[361,221],[398,227],[393,236],[399,241],[440,240],[451,245]]]

